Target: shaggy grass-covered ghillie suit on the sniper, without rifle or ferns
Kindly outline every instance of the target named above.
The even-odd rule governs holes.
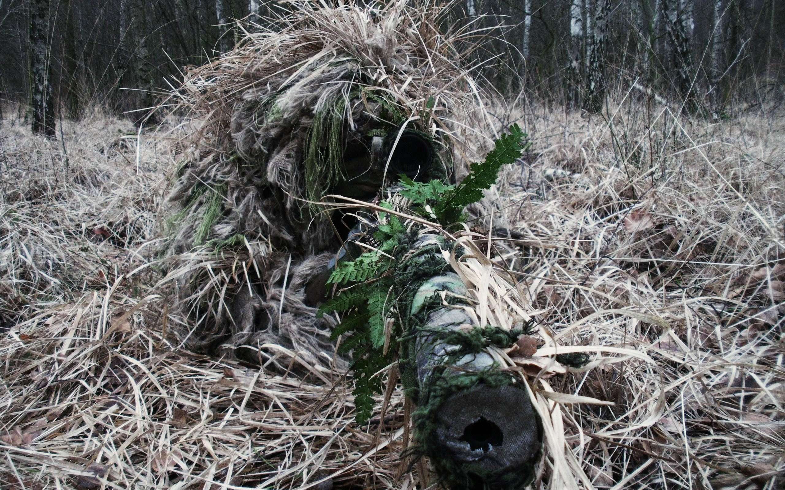
[[[189,71],[177,93],[198,123],[170,195],[180,211],[168,278],[190,348],[254,361],[268,343],[306,357],[332,351],[334,325],[316,318],[304,289],[345,234],[318,201],[369,178],[352,176],[346,152],[386,158],[407,131],[433,147],[418,177],[454,180],[477,97],[455,49],[461,34],[438,29],[443,10],[287,5],[269,27],[240,24],[238,46]],[[397,180],[391,159],[374,177],[384,185]]]

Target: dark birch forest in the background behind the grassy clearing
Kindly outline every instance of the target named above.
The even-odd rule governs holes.
[[[265,25],[279,8],[261,0],[0,0],[4,108],[23,103],[25,111],[38,100],[57,107],[50,118],[79,119],[97,105],[139,119],[177,86],[183,67],[232,48],[243,35],[233,19]],[[513,99],[596,112],[606,89],[632,87],[714,118],[782,103],[783,21],[785,2],[776,0],[462,0],[444,19],[496,36],[473,61]],[[51,122],[39,125],[53,132]]]

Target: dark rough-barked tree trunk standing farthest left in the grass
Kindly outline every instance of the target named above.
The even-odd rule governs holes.
[[[49,64],[49,0],[30,3],[30,71],[33,132],[55,136],[52,67]]]

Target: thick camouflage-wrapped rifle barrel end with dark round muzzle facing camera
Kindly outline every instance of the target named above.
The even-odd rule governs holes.
[[[429,310],[423,299],[434,291],[466,295],[450,272],[422,285],[415,307]],[[475,328],[481,331],[464,308],[436,306],[427,312],[415,340],[420,405],[415,424],[449,488],[523,488],[539,457],[542,426],[524,381],[502,372],[481,346],[468,344],[470,336],[462,334]]]

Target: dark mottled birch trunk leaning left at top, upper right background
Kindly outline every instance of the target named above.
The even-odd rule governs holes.
[[[674,51],[676,64],[676,87],[684,100],[684,111],[695,113],[698,110],[697,98],[692,86],[692,48],[688,37],[688,26],[684,16],[677,12],[677,3],[674,0],[663,0],[663,16],[670,39],[671,49]]]

